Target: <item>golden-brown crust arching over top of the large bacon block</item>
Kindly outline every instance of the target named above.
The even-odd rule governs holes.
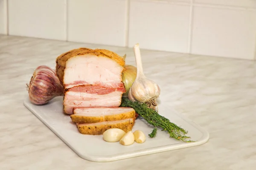
[[[76,48],[70,51],[67,51],[56,58],[56,74],[63,83],[64,69],[66,67],[66,62],[71,57],[81,56],[85,54],[95,55],[97,57],[108,57],[116,61],[119,65],[124,66],[125,60],[123,57],[120,57],[118,54],[113,51],[105,49],[90,49],[90,48]]]

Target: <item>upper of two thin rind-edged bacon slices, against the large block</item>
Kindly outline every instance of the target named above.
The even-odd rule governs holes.
[[[135,117],[133,108],[74,108],[71,115],[74,123],[111,122]]]

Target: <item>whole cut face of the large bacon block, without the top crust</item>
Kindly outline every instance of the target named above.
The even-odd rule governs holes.
[[[64,113],[73,108],[119,107],[125,87],[123,67],[109,57],[86,54],[71,57],[64,69]]]

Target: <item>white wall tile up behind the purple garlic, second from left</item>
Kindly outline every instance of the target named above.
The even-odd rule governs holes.
[[[9,34],[66,40],[65,0],[8,0]]]

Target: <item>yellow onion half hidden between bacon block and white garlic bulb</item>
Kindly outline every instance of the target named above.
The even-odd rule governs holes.
[[[122,82],[125,84],[126,92],[123,96],[128,96],[128,92],[137,76],[137,68],[133,65],[124,65],[124,70],[122,71]]]

